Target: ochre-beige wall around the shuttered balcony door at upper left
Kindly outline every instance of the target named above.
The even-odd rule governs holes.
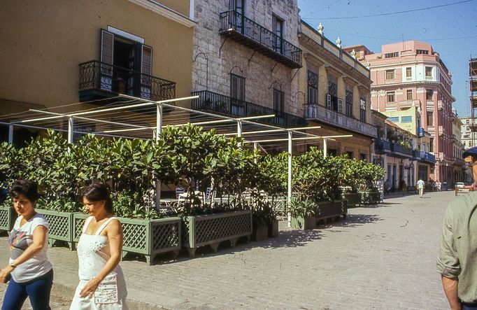
[[[99,60],[100,29],[108,26],[143,38],[152,47],[152,76],[176,82],[176,97],[190,94],[190,2],[157,2],[178,13],[150,1],[3,3],[0,20],[8,26],[0,29],[0,113],[17,110],[17,101],[46,107],[78,102],[78,64]]]

